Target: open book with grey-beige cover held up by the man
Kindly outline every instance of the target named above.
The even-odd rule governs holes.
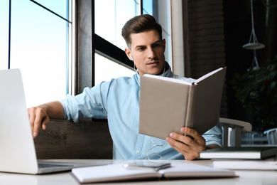
[[[158,75],[141,76],[139,133],[165,139],[181,127],[200,134],[217,125],[226,68],[188,83]]]

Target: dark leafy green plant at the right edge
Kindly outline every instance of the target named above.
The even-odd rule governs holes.
[[[244,75],[234,74],[230,81],[237,100],[254,117],[254,130],[277,126],[277,60],[265,67],[249,68]]]

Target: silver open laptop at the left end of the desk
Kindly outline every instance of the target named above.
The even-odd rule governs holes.
[[[40,163],[42,167],[36,158],[21,72],[0,70],[0,171],[46,174],[77,167],[74,163]]]

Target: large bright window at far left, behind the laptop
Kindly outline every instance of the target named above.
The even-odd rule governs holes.
[[[0,68],[21,70],[28,107],[60,100],[69,93],[71,2],[13,0],[11,12],[9,6],[0,1]]]

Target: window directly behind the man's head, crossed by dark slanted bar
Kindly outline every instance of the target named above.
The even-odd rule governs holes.
[[[126,43],[121,36],[121,28],[130,18],[140,14],[153,15],[163,26],[163,37],[166,42],[165,58],[170,61],[170,26],[168,0],[95,0],[94,1],[94,83],[134,75],[134,63],[126,58]],[[159,14],[161,12],[161,14]],[[104,47],[100,47],[102,43]],[[109,48],[107,48],[109,46]],[[114,50],[113,50],[114,48]],[[120,51],[121,50],[121,51]],[[115,53],[120,53],[120,57]],[[124,71],[119,69],[124,69]],[[119,72],[120,71],[120,72]],[[93,72],[92,72],[93,73]]]

